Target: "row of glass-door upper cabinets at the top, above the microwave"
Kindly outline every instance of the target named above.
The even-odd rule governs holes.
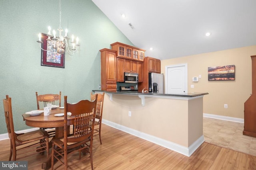
[[[143,49],[132,47],[130,45],[119,43],[119,42],[112,43],[110,45],[112,47],[112,50],[117,51],[116,57],[122,57],[122,58],[136,60],[136,61],[144,61],[145,50]]]

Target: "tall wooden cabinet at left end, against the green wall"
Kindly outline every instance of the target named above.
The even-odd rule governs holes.
[[[116,51],[101,49],[101,90],[116,91]]]

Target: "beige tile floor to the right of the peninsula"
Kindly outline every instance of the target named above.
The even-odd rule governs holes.
[[[206,143],[256,156],[256,138],[243,135],[244,123],[204,117]]]

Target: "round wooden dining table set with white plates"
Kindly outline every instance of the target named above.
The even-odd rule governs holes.
[[[40,115],[32,116],[29,114],[23,114],[23,120],[26,125],[31,127],[42,127],[42,128],[55,128],[55,137],[60,138],[64,136],[64,116],[55,116],[57,113],[64,113],[64,109],[56,108],[50,110],[50,115],[44,116],[44,113]],[[68,125],[73,125],[74,117],[68,115],[67,123]],[[70,132],[70,126],[67,129]],[[42,169],[50,168],[51,166],[51,154],[46,162],[42,163]]]

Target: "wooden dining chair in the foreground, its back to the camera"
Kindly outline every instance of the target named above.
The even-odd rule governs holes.
[[[89,153],[91,169],[92,164],[92,141],[94,131],[94,121],[96,115],[97,95],[94,102],[89,100],[81,100],[76,104],[67,103],[67,96],[64,96],[64,137],[52,140],[52,170],[54,168],[54,158],[64,165],[64,169],[82,162],[88,156],[81,159],[81,152]],[[67,112],[71,112],[70,116],[74,117],[73,133],[68,135],[68,116]],[[89,126],[92,120],[92,127]],[[72,160],[74,153],[79,151],[79,160]],[[69,156],[69,157],[68,157]],[[69,163],[68,163],[69,161]]]

